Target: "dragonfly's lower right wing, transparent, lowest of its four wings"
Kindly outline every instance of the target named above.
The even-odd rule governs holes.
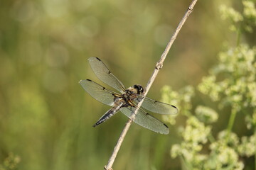
[[[120,111],[124,113],[128,118],[134,113],[136,108],[132,106],[120,108]],[[152,130],[154,132],[159,132],[161,134],[167,135],[169,134],[169,128],[166,124],[162,123],[157,118],[154,118],[153,115],[146,113],[146,111],[139,108],[137,115],[134,119],[134,123],[141,125],[144,128]]]

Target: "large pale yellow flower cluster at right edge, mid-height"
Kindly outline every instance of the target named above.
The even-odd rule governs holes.
[[[256,48],[239,45],[220,52],[220,64],[214,67],[210,76],[204,77],[198,90],[208,94],[213,101],[222,99],[223,105],[256,106]],[[217,81],[219,74],[226,79]],[[220,98],[222,96],[222,98]],[[224,97],[223,97],[224,96]]]

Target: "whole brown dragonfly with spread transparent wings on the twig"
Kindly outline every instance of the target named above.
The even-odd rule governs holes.
[[[134,118],[134,123],[141,125],[144,128],[159,132],[161,134],[169,134],[169,128],[165,123],[162,123],[159,119],[153,115],[147,113],[151,111],[153,113],[175,115],[178,113],[178,108],[168,103],[155,101],[143,95],[144,89],[141,85],[135,84],[128,89],[124,87],[121,81],[110,72],[107,66],[98,58],[90,57],[88,59],[92,71],[96,74],[97,78],[105,84],[119,91],[119,93],[105,88],[104,86],[97,84],[90,79],[80,80],[79,83],[85,91],[87,91],[92,98],[104,103],[108,106],[112,106],[102,117],[97,120],[93,127],[104,123],[111,118],[118,111],[121,111],[128,118],[137,110]],[[139,101],[144,99],[142,106],[138,107]],[[145,111],[145,109],[147,111]]]

